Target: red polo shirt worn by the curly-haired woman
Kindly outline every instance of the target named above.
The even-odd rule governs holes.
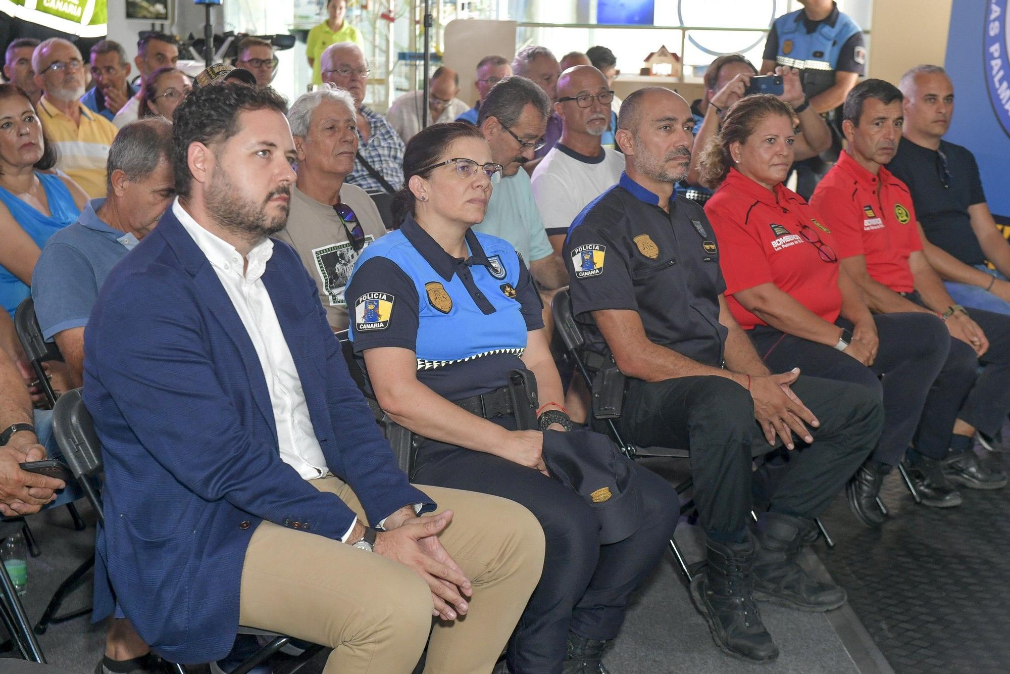
[[[774,191],[765,189],[730,169],[705,212],[719,235],[726,303],[740,327],[768,324],[733,297],[765,283],[775,284],[828,322],[838,318],[836,244],[803,197],[782,183]],[[834,262],[822,260],[821,252]]]

